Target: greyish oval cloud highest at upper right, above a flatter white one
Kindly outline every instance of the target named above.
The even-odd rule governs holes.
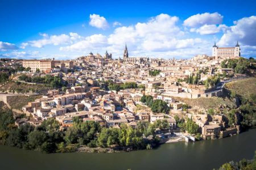
[[[204,14],[196,14],[192,15],[189,18],[184,20],[183,25],[188,27],[201,27],[205,24],[221,24],[223,16],[218,14],[218,12],[214,12],[210,14],[209,12],[205,12]]]

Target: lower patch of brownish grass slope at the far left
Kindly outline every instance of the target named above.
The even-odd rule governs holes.
[[[42,97],[42,95],[36,95],[36,96],[9,96],[7,98],[7,103],[10,105],[13,109],[19,109],[21,110],[24,105],[27,105],[28,102],[35,101],[36,99],[39,99]]]

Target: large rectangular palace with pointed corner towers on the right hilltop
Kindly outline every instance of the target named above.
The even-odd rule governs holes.
[[[216,43],[212,47],[212,56],[220,58],[240,57],[240,45],[237,42],[235,47],[218,47]]]

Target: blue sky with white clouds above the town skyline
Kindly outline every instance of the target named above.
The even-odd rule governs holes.
[[[241,46],[256,57],[256,1],[0,0],[0,58],[191,58]]]

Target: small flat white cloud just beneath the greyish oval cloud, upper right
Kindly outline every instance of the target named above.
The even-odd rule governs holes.
[[[211,35],[214,33],[218,33],[220,31],[225,32],[228,29],[228,26],[226,26],[225,24],[220,24],[220,25],[203,25],[200,28],[191,28],[190,31],[191,32],[197,32],[200,33],[200,35]]]

